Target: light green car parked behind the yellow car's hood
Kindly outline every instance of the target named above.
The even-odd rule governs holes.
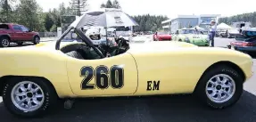
[[[173,36],[173,40],[199,46],[210,45],[210,37],[208,35],[204,35],[200,31],[196,31],[194,28],[177,30],[176,34]]]

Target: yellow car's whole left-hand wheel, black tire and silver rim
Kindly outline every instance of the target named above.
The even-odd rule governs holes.
[[[13,77],[4,85],[3,93],[7,110],[25,118],[45,114],[57,100],[54,88],[37,77]]]

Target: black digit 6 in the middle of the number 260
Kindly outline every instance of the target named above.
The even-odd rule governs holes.
[[[95,69],[95,81],[96,86],[100,89],[106,89],[109,87],[109,69],[105,66],[99,66]]]

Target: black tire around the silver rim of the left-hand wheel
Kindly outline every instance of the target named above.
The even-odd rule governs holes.
[[[38,85],[41,88],[41,90],[43,91],[44,94],[42,96],[44,96],[45,99],[41,99],[42,105],[39,106],[39,108],[37,110],[24,111],[24,110],[21,110],[18,107],[16,107],[14,105],[14,102],[12,102],[12,88],[15,85],[21,83],[22,81],[29,81],[31,83],[34,83],[34,84]],[[35,87],[35,85],[34,85],[34,87]],[[26,88],[26,85],[25,85],[25,88]],[[27,88],[28,88],[28,85],[27,85]],[[24,98],[22,98],[22,99],[24,99]],[[30,99],[30,101],[32,101],[31,98],[29,98],[29,99]],[[35,117],[45,115],[45,113],[47,111],[54,108],[54,105],[56,104],[57,100],[58,100],[58,97],[54,90],[54,87],[52,85],[49,85],[45,81],[45,79],[42,79],[42,78],[12,77],[8,81],[6,81],[6,84],[4,85],[3,101],[4,101],[5,108],[7,110],[9,110],[13,115],[21,117],[21,118],[35,118]],[[37,102],[39,102],[39,101],[40,100],[37,99]],[[25,103],[25,102],[23,102],[23,103]]]

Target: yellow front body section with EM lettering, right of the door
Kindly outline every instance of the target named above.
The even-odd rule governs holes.
[[[134,48],[128,53],[135,57],[139,72],[136,94],[192,93],[202,73],[219,61],[231,61],[244,70],[246,77],[252,76],[252,58],[224,48],[162,42],[147,44],[141,50]],[[161,81],[160,90],[145,91],[149,80]]]

